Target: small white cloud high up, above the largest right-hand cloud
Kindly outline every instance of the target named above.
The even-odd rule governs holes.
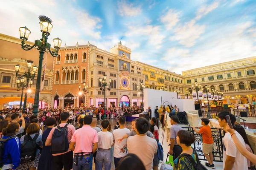
[[[179,21],[180,12],[175,11],[174,9],[169,9],[166,14],[163,14],[160,17],[161,22],[166,26],[167,30],[171,30]]]

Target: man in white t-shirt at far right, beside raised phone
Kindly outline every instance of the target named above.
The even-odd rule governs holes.
[[[230,116],[231,124],[234,125],[236,122],[236,117],[233,114],[230,114],[227,111],[218,113],[218,123],[220,127],[223,127],[226,130],[227,127],[227,118]],[[239,141],[244,145],[244,139],[236,131],[235,132]],[[223,138],[223,169],[224,170],[248,170],[246,158],[239,152],[233,139],[231,138],[230,133],[226,133]]]

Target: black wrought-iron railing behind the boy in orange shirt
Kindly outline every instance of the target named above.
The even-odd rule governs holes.
[[[199,157],[200,160],[207,161],[207,159],[205,158],[204,153],[203,153],[202,135],[196,133],[193,130],[192,127],[182,127],[182,128],[184,130],[187,130],[187,131],[194,134],[195,142],[192,144],[193,148],[197,152],[198,157]],[[224,133],[222,133],[222,131],[220,129],[217,129],[217,128],[211,128],[211,130],[212,130],[212,139],[214,141],[213,150],[212,150],[213,161],[223,162],[223,142],[222,142],[222,139],[224,137]]]

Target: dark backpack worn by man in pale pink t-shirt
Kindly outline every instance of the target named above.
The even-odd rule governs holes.
[[[69,149],[69,142],[67,139],[67,124],[64,127],[59,125],[52,134],[52,154],[64,153]]]

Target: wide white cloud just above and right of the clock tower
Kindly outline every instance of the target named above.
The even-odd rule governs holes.
[[[140,37],[140,40],[148,40],[151,45],[155,45],[155,48],[159,49],[166,37],[160,32],[160,26],[129,26],[125,35],[134,39]]]

